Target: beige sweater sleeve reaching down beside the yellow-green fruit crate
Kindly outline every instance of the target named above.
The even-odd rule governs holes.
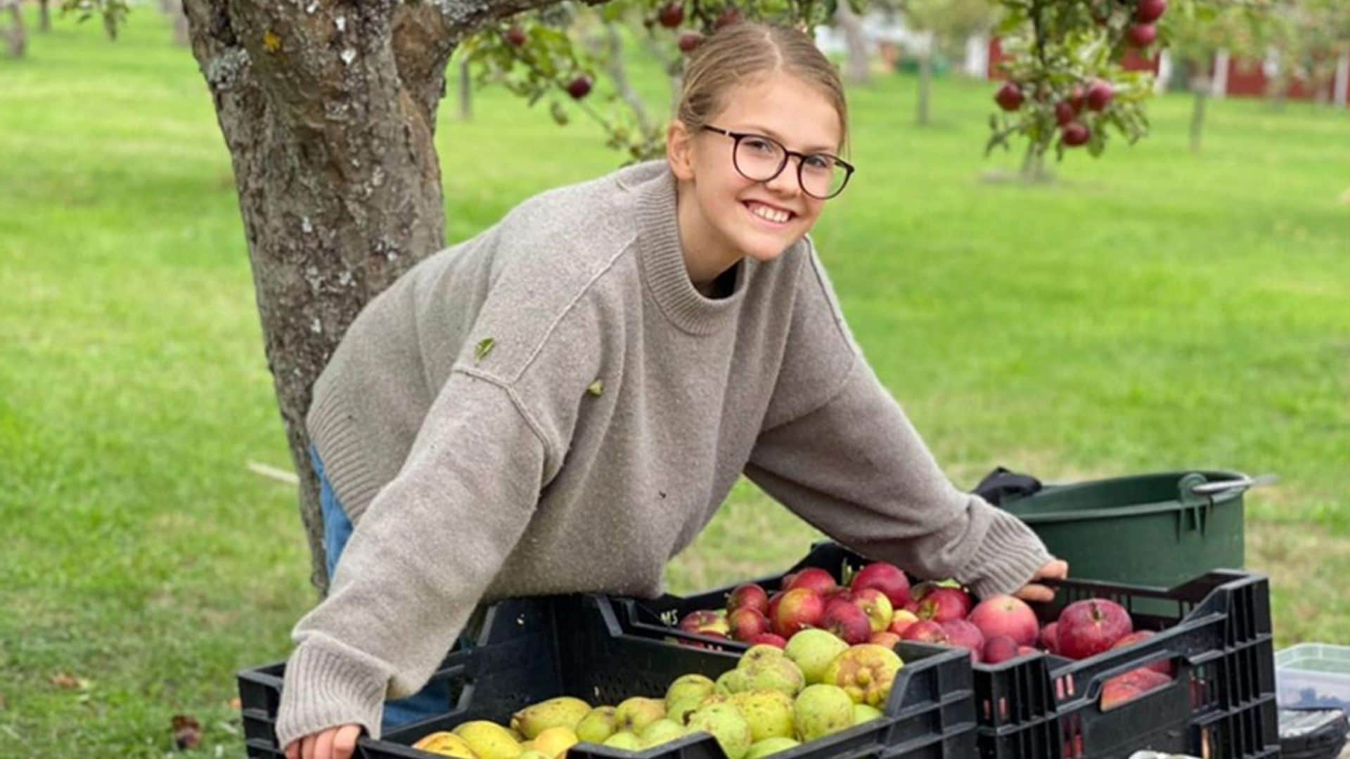
[[[282,747],[348,723],[379,737],[385,700],[431,678],[524,533],[554,461],[512,386],[451,374],[356,524],[328,597],[296,624]]]

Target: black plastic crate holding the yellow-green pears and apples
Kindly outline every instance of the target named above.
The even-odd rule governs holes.
[[[452,651],[435,678],[454,683],[455,704],[446,714],[385,735],[362,737],[362,759],[425,759],[410,745],[423,736],[468,720],[509,724],[512,713],[555,696],[591,704],[618,704],[630,696],[664,696],[679,675],[716,678],[734,669],[740,652],[671,646],[633,635],[602,596],[510,600],[493,605],[474,644]],[[883,717],[806,743],[782,759],[964,759],[976,754],[971,662],[964,651],[906,644]],[[239,674],[248,755],[277,759],[274,725],[285,662]],[[633,752],[590,743],[568,750],[570,759],[632,758]],[[636,756],[647,759],[725,759],[707,735],[682,737]]]

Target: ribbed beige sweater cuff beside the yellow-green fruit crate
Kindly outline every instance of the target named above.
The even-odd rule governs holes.
[[[356,724],[379,737],[389,678],[377,667],[324,648],[301,643],[286,663],[277,710],[277,743],[292,741],[338,725]]]

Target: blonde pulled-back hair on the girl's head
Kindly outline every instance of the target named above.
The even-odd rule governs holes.
[[[840,116],[840,150],[848,143],[848,103],[838,69],[815,42],[792,27],[736,22],[699,43],[684,66],[675,117],[691,134],[702,130],[725,107],[734,85],[783,72],[817,86]]]

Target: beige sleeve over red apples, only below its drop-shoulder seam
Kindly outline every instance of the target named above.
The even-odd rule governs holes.
[[[824,405],[760,434],[745,474],[860,554],[979,596],[1010,593],[1050,560],[1019,519],[948,481],[861,355]]]

